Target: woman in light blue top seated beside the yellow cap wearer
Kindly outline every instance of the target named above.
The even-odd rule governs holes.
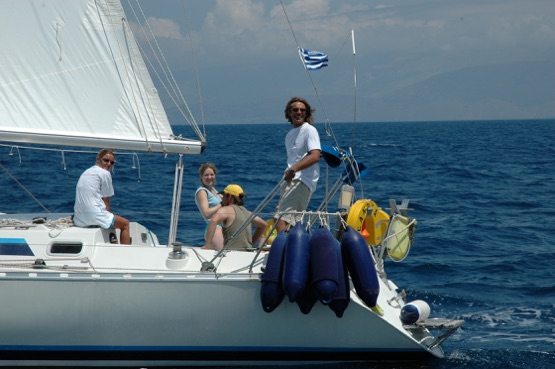
[[[200,214],[208,224],[210,219],[218,209],[222,207],[222,196],[218,193],[216,188],[216,166],[212,163],[203,163],[199,170],[200,186],[195,192],[195,204],[197,205]],[[206,229],[205,232],[205,246],[207,249],[221,250],[224,246],[224,236],[222,233],[221,225],[218,225],[211,245],[206,244]]]

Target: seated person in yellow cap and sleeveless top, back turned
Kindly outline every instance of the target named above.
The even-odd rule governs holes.
[[[222,225],[224,234],[224,248],[231,250],[249,250],[260,239],[266,229],[266,221],[259,216],[251,220],[251,224],[243,229],[233,241],[231,237],[251,216],[251,212],[245,209],[244,200],[247,197],[239,185],[230,184],[223,190],[222,207],[212,216],[206,230],[205,248],[213,249],[214,233],[218,224]],[[256,230],[251,236],[251,227]]]

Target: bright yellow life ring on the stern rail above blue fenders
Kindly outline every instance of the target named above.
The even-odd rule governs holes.
[[[370,246],[379,245],[389,226],[389,215],[370,200],[356,201],[347,215],[347,224],[358,231]]]

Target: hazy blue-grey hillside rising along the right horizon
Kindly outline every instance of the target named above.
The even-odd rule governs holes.
[[[361,106],[360,116],[372,121],[553,118],[555,63],[507,63],[442,73],[367,99]]]

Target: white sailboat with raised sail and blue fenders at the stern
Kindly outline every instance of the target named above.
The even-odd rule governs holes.
[[[207,143],[200,131],[196,139],[173,134],[120,2],[0,6],[2,142],[177,157],[167,245],[140,222],[131,222],[132,244],[122,246],[110,243],[109,230],[76,227],[71,214],[0,215],[0,365],[444,357],[441,344],[462,321],[430,318],[429,306],[409,301],[384,270],[387,257],[402,260],[412,243],[408,202],[391,201],[386,212],[372,200],[355,201],[351,184],[364,167],[350,152],[323,148],[327,165],[344,168],[325,206],[288,234],[268,229],[265,247],[214,252],[183,245],[175,236],[183,156],[201,154]],[[329,212],[337,194],[340,209]],[[335,220],[334,229],[315,224],[324,217]],[[328,250],[315,283],[302,279],[314,280],[318,263],[284,275],[294,234],[305,242],[301,253]]]

